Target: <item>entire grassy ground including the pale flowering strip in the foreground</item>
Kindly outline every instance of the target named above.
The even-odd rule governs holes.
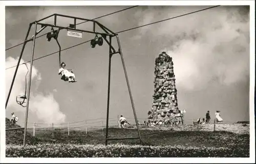
[[[109,141],[110,147],[105,147],[105,129],[71,130],[67,128],[28,129],[27,144],[22,147],[24,130],[6,131],[7,156],[9,157],[248,157],[249,156],[249,126],[244,123],[214,125],[185,125],[140,127],[142,146],[139,140]],[[7,128],[19,127],[6,119]],[[54,133],[53,133],[54,132]],[[126,138],[138,136],[134,126],[120,129],[109,128],[109,138]],[[125,146],[114,146],[124,144]],[[111,146],[112,145],[112,146]],[[148,147],[150,146],[150,147]],[[63,150],[67,151],[63,151]],[[97,152],[101,153],[97,153]],[[157,151],[157,153],[153,153]],[[65,152],[72,152],[66,153]],[[141,154],[139,154],[141,153]],[[33,155],[32,155],[33,154]],[[144,154],[144,155],[143,155]]]

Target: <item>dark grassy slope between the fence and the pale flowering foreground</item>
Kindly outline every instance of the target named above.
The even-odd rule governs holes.
[[[7,121],[7,126],[10,122]],[[247,147],[249,145],[249,126],[242,124],[216,125],[217,131],[212,131],[213,125],[186,125],[184,131],[182,127],[141,127],[140,133],[144,145],[187,145],[187,146],[214,146],[214,147],[232,147],[234,145]],[[194,130],[192,131],[193,128]],[[243,130],[244,128],[244,130]],[[234,130],[237,129],[237,130]],[[229,131],[228,131],[229,130]],[[235,133],[235,132],[239,133]],[[28,129],[27,143],[62,143],[62,144],[103,144],[105,141],[105,129],[96,129],[92,131],[72,130],[68,136],[67,129],[55,128],[54,135],[52,129],[43,128],[36,131],[36,137],[32,136],[32,129]],[[23,130],[7,131],[6,144],[22,144]],[[52,137],[54,136],[54,137]],[[120,129],[109,128],[109,138],[125,138],[138,136],[134,127]],[[119,140],[109,141],[109,143],[123,143],[128,145],[139,144],[139,140]]]

